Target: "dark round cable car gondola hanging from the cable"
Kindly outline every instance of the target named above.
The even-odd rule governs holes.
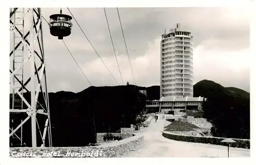
[[[57,36],[59,40],[63,37],[67,37],[71,34],[71,23],[72,17],[70,15],[62,14],[60,9],[60,14],[53,14],[50,16],[50,33],[52,36]]]

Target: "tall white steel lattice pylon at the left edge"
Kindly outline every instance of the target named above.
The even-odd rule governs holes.
[[[10,42],[10,147],[51,147],[40,8],[10,9]]]

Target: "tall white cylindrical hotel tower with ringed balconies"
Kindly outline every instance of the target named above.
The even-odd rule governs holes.
[[[162,35],[160,98],[193,97],[193,37],[175,29]]]

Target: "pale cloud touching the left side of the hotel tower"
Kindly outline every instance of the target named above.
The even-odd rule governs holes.
[[[133,73],[135,76],[136,84],[139,86],[151,86],[159,84],[159,73],[160,73],[160,58],[159,58],[159,42],[160,38],[154,40],[152,43],[148,43],[148,49],[145,54],[131,60],[131,65],[133,68]],[[120,71],[124,84],[129,81],[130,84],[134,84],[133,74],[130,67],[129,59],[127,54],[117,54],[118,63],[120,66]],[[106,66],[110,69],[114,77],[117,79],[119,84],[121,83],[120,74],[118,71],[118,66],[116,63],[115,56],[102,58]],[[105,84],[113,86],[115,85],[115,79],[111,76],[108,70],[105,68],[104,64],[100,59],[94,60],[84,64],[84,72],[87,73],[88,77],[92,78],[96,86]],[[97,75],[97,76],[95,76]]]

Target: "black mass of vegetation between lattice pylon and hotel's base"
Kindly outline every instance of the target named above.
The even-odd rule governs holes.
[[[24,96],[30,98],[29,93]],[[39,102],[42,103],[43,99],[40,94]],[[49,93],[53,146],[86,146],[96,143],[96,132],[120,132],[120,127],[131,127],[143,111],[145,100],[146,96],[132,85],[90,87],[79,93]],[[42,106],[45,107],[44,104]],[[26,117],[26,114],[14,115],[15,121]],[[39,125],[44,126],[44,116],[38,115],[37,120]],[[30,123],[30,120],[27,121],[23,127],[26,130],[23,141],[27,146],[31,146]],[[41,144],[39,132],[37,143]]]

